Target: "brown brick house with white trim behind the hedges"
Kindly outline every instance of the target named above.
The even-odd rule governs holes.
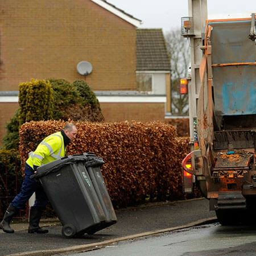
[[[140,24],[141,20],[104,0],[2,0],[0,139],[5,123],[18,109],[19,82],[31,78],[86,79],[107,122],[163,121],[170,104],[170,64],[158,69],[156,65],[143,66],[143,40],[138,40],[143,30],[137,29]],[[166,51],[163,40],[162,47]],[[147,49],[150,51],[159,54]],[[163,59],[166,57],[167,53]],[[92,64],[92,73],[86,77],[77,72],[80,61]],[[147,82],[137,83],[142,76]],[[143,83],[146,89],[140,87]]]

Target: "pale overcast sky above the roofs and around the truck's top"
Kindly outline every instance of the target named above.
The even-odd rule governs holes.
[[[143,21],[141,28],[162,28],[168,32],[180,28],[180,19],[188,16],[188,0],[107,0],[119,9]],[[256,0],[208,0],[208,18],[213,14],[256,13]]]

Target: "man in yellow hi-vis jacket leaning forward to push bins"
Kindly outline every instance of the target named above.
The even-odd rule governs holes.
[[[25,176],[21,191],[7,208],[5,216],[3,216],[3,220],[0,223],[0,229],[6,233],[14,233],[14,229],[10,227],[10,221],[19,209],[26,207],[26,202],[35,192],[35,203],[30,209],[28,233],[48,233],[47,229],[42,229],[39,226],[39,221],[43,209],[48,204],[48,199],[40,182],[31,179],[30,176],[36,173],[36,169],[42,164],[47,164],[65,156],[67,144],[75,139],[76,135],[77,127],[73,123],[67,123],[63,130],[49,135],[32,152],[25,164]]]

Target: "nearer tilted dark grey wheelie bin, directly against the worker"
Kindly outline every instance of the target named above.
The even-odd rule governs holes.
[[[46,192],[63,225],[62,234],[71,238],[94,233],[105,226],[105,214],[84,167],[85,155],[70,155],[37,169],[36,179]]]

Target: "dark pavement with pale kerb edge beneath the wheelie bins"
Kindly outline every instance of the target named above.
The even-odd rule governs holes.
[[[0,255],[53,255],[65,251],[76,251],[85,245],[104,241],[129,239],[156,230],[170,229],[189,225],[211,218],[215,213],[209,211],[206,199],[147,204],[137,208],[117,210],[117,223],[93,235],[85,234],[80,238],[63,238],[61,225],[49,226],[47,234],[28,234],[23,229],[13,234],[0,231]],[[216,219],[215,219],[216,221]],[[195,224],[195,223],[194,223]],[[194,225],[192,224],[192,225]],[[49,225],[52,225],[49,223]],[[143,234],[141,236],[143,236]],[[32,251],[31,253],[28,253]]]

